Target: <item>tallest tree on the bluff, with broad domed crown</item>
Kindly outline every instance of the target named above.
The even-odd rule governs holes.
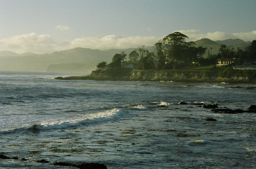
[[[163,52],[167,62],[171,63],[173,70],[175,70],[179,62],[182,62],[186,49],[190,46],[185,41],[186,38],[188,38],[186,35],[174,32],[155,43],[156,48],[161,49]]]

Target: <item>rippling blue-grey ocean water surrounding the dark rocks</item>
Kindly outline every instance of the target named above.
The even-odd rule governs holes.
[[[0,168],[256,168],[256,113],[201,105],[246,110],[256,85],[54,79],[70,75],[0,72]]]

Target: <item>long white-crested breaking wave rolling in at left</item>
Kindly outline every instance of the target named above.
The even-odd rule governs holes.
[[[87,114],[83,117],[73,119],[73,120],[66,120],[61,122],[51,122],[51,123],[42,123],[42,124],[35,124],[30,126],[29,128],[14,128],[14,129],[7,129],[7,130],[0,130],[0,133],[11,133],[20,130],[30,130],[32,132],[38,132],[39,130],[52,130],[52,129],[63,129],[68,127],[80,126],[82,124],[93,124],[97,122],[105,122],[112,120],[114,118],[119,118],[119,114],[121,113],[120,109],[111,109],[104,112],[99,112],[95,114]]]

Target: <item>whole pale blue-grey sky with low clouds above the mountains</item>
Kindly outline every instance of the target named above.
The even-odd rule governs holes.
[[[175,31],[255,40],[256,0],[0,0],[0,51],[125,49]]]

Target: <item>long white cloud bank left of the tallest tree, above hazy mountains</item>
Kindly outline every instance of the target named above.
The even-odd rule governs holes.
[[[0,51],[9,50],[19,54],[34,52],[37,54],[51,53],[74,47],[91,49],[126,49],[140,45],[154,45],[160,38],[154,36],[121,37],[107,35],[99,37],[82,37],[72,41],[57,42],[50,35],[38,35],[36,33],[17,35],[0,40]]]

